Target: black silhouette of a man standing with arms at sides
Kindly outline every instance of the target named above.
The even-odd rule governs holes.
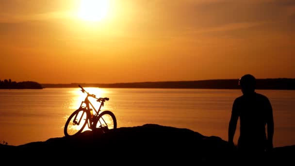
[[[246,74],[239,80],[243,95],[232,105],[229,120],[229,145],[234,145],[233,137],[240,118],[240,136],[237,149],[248,154],[263,153],[273,148],[274,118],[270,101],[255,92],[256,79]],[[267,134],[265,131],[267,126]]]

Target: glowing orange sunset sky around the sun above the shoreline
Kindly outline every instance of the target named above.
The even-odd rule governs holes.
[[[81,0],[0,0],[0,80],[295,78],[294,0],[107,3],[94,22]]]

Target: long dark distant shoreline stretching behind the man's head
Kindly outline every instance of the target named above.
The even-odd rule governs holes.
[[[43,83],[43,88],[175,88],[175,89],[240,89],[236,79],[200,80],[200,81],[167,81],[138,83]],[[257,79],[256,89],[295,90],[295,79]]]

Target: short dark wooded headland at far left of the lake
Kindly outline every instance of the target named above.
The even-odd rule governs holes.
[[[0,80],[0,89],[43,89],[43,86],[40,83],[33,81],[25,81],[25,82],[12,82],[9,80]]]

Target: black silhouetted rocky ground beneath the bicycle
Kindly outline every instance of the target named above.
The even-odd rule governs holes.
[[[121,127],[102,131],[86,131],[73,138],[50,138],[44,142],[32,142],[19,146],[0,144],[0,156],[11,162],[60,163],[64,161],[110,162],[111,164],[135,165],[210,165],[278,163],[292,165],[295,145],[274,148],[259,158],[239,158],[234,147],[217,136],[205,136],[189,129],[180,129],[157,124],[136,127]],[[261,158],[263,157],[263,158]],[[13,158],[13,159],[11,159]],[[88,160],[89,159],[89,160]],[[2,160],[3,161],[3,160]]]

